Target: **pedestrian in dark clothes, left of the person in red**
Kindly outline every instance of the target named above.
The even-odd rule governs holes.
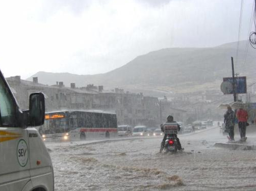
[[[227,111],[224,114],[224,123],[225,123],[225,131],[228,132],[229,141],[234,140],[234,127],[235,127],[235,112],[232,110],[231,106],[227,106]]]

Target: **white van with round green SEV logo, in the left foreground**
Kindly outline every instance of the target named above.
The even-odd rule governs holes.
[[[0,190],[53,191],[49,153],[33,126],[44,122],[44,96],[30,95],[28,111],[21,111],[0,71]]]

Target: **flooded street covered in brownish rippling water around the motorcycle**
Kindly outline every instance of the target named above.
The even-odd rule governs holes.
[[[219,128],[179,135],[184,151],[159,153],[162,137],[46,143],[58,190],[255,190],[256,152],[214,147]]]

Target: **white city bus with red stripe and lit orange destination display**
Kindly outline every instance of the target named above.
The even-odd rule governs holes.
[[[116,114],[103,111],[45,113],[39,128],[44,141],[76,141],[117,137]]]

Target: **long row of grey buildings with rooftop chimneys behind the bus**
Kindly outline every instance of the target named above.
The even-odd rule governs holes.
[[[46,112],[103,110],[116,113],[119,125],[155,127],[160,124],[160,105],[156,97],[124,92],[119,88],[107,91],[103,86],[97,87],[93,84],[76,88],[74,83],[71,83],[70,87],[65,87],[62,81],[56,81],[55,85],[48,86],[39,84],[38,78],[33,78],[33,82],[22,80],[20,76],[6,79],[22,110],[28,110],[31,93],[43,92]]]

